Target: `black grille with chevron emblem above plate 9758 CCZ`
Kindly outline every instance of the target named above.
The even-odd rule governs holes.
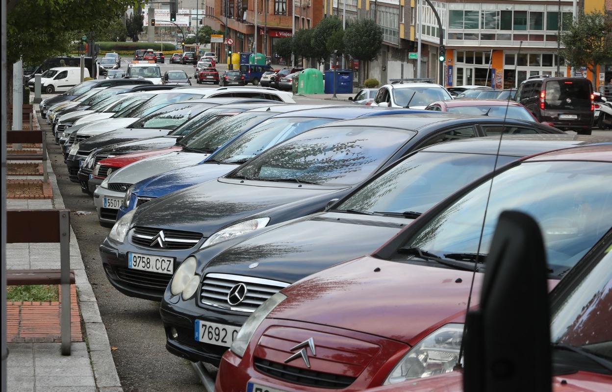
[[[202,237],[201,233],[192,231],[162,230],[155,227],[139,226],[135,227],[132,232],[132,243],[145,246],[146,248],[183,250],[198,245]],[[154,238],[159,240],[154,241]]]

